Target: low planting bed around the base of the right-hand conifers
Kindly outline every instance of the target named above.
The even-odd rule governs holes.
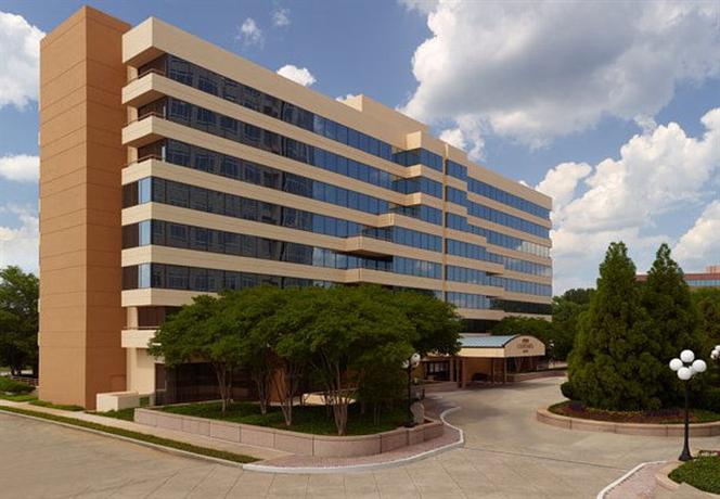
[[[683,409],[660,409],[657,411],[606,411],[584,407],[580,402],[564,401],[550,406],[550,412],[570,418],[580,418],[594,421],[608,421],[613,423],[645,423],[645,424],[682,424],[684,422]],[[703,409],[691,409],[691,423],[712,423],[720,421],[720,414]]]

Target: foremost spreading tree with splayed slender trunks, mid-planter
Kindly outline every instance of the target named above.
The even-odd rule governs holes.
[[[377,286],[313,287],[297,330],[309,347],[310,361],[325,387],[338,435],[347,432],[347,413],[363,375],[398,367],[412,354],[413,327]]]

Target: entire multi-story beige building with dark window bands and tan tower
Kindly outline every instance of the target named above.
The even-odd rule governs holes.
[[[41,67],[44,399],[154,392],[154,330],[222,289],[421,290],[468,332],[549,315],[551,200],[414,119],[89,8]]]

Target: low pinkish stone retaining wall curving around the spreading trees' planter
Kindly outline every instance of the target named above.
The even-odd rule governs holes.
[[[445,432],[445,425],[441,421],[428,420],[428,422],[412,428],[400,427],[372,435],[311,435],[250,424],[172,414],[152,409],[136,409],[134,422],[205,435],[221,440],[321,458],[353,458],[380,455],[430,440],[441,436]]]

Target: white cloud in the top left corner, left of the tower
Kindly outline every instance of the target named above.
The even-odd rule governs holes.
[[[0,12],[0,107],[18,108],[38,99],[40,39],[21,15]]]

